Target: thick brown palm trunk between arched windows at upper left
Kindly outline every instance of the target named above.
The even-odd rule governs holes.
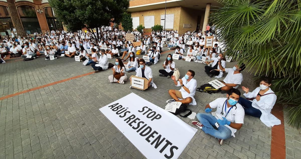
[[[24,31],[23,25],[21,23],[21,19],[19,18],[19,14],[15,5],[14,0],[7,0],[9,14],[11,15],[11,21],[14,24],[14,27],[17,30],[18,36],[26,37],[26,33]]]

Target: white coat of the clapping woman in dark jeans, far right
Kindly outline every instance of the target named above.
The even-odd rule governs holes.
[[[260,87],[257,87],[253,92],[248,92],[247,94],[244,93],[244,96],[246,98],[255,98],[257,94],[260,91]],[[273,114],[271,114],[272,108],[275,105],[277,96],[275,94],[268,94],[268,93],[274,93],[271,88],[267,92],[265,92],[260,97],[260,100],[257,101],[256,99],[253,99],[252,101],[252,107],[259,109],[261,111],[260,120],[262,123],[264,123],[266,126],[274,126],[281,124],[281,121],[275,117]],[[268,95],[265,95],[268,94]]]

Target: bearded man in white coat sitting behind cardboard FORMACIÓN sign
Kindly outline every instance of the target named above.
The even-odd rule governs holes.
[[[150,86],[153,86],[155,89],[157,88],[156,84],[153,81],[153,72],[151,70],[150,67],[145,66],[145,61],[144,59],[140,59],[139,60],[139,68],[136,70],[136,76],[137,77],[143,77],[146,78],[148,80],[147,82],[147,88],[149,88]],[[132,78],[130,77],[130,80],[132,80]],[[133,86],[130,86],[130,89],[133,89]]]

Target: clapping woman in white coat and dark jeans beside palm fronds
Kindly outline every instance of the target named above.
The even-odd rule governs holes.
[[[245,114],[260,117],[260,120],[266,126],[281,124],[281,121],[271,114],[277,99],[275,93],[269,88],[271,85],[270,79],[263,78],[260,80],[259,87],[253,92],[249,92],[249,88],[242,86],[246,99],[240,97],[238,100],[238,103],[244,107]]]

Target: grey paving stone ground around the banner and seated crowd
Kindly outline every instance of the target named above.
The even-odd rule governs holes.
[[[159,76],[158,70],[162,69],[167,54],[161,55],[158,64],[150,66],[157,89],[142,92],[129,89],[129,81],[124,85],[110,83],[108,76],[112,71],[105,70],[3,99],[0,101],[0,158],[145,158],[98,109],[131,92],[164,108],[165,101],[170,99],[168,89],[180,89],[171,79]],[[182,76],[188,69],[196,72],[197,86],[212,80],[204,73],[204,64],[182,60],[175,63]],[[227,63],[227,67],[234,64]],[[0,97],[92,71],[90,66],[65,57],[1,64]],[[135,72],[126,74],[129,77]],[[242,85],[254,89],[252,75],[243,74]],[[197,105],[189,108],[204,112],[206,104],[224,96],[196,92]],[[191,119],[181,119],[191,125]],[[287,149],[291,149],[287,158],[298,158],[300,131],[288,125],[285,128],[286,137],[290,137]],[[221,146],[217,139],[198,130],[179,158],[270,158],[271,128],[258,118],[246,115],[244,125],[235,136]]]

